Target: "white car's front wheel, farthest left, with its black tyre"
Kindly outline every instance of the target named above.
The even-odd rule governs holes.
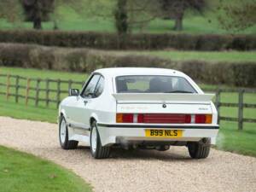
[[[61,148],[63,149],[74,149],[78,147],[78,141],[69,141],[68,140],[68,129],[67,129],[67,121],[61,116],[60,125],[59,125],[59,140],[61,144]]]

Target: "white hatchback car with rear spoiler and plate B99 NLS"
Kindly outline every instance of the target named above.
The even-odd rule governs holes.
[[[71,89],[60,104],[61,147],[83,142],[102,159],[113,146],[164,151],[174,145],[187,146],[192,158],[207,158],[218,134],[212,96],[175,70],[96,70],[81,91]]]

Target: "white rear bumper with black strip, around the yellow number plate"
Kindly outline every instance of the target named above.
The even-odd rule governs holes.
[[[202,138],[211,138],[216,143],[218,125],[109,125],[97,124],[102,146],[122,141],[155,142],[197,142]],[[182,130],[182,137],[146,137],[145,130]]]

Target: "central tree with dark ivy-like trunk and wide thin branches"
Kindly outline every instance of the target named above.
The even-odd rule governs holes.
[[[86,1],[86,0],[84,0]],[[87,3],[90,10],[87,15],[90,18],[113,20],[119,35],[131,32],[134,27],[146,26],[150,20],[154,20],[159,11],[159,0],[94,0]],[[99,11],[100,10],[100,11]]]

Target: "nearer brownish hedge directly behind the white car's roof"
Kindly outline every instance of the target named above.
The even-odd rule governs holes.
[[[96,49],[71,49],[29,44],[0,44],[0,66],[35,67],[90,73],[102,67],[165,67],[208,84],[256,86],[256,63],[171,61],[148,55],[125,55]]]

